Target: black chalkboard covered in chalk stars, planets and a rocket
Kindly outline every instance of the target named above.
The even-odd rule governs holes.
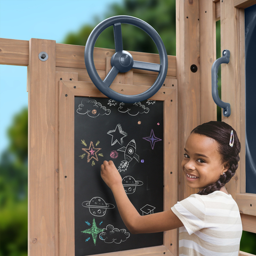
[[[112,160],[141,215],[163,211],[163,101],[75,97],[75,256],[163,244],[126,229],[100,165]]]

